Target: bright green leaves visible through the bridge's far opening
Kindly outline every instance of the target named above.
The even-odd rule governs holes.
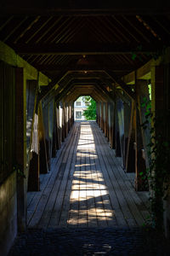
[[[84,96],[83,101],[90,102],[90,105],[88,106],[88,108],[83,111],[83,116],[85,116],[87,120],[95,120],[96,119],[96,102],[90,96]]]

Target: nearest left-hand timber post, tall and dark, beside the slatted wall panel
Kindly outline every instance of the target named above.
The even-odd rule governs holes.
[[[18,230],[26,230],[26,79],[24,69],[16,68],[16,160],[26,178],[17,177]]]

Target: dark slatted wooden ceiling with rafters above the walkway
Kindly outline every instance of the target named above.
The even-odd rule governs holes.
[[[38,13],[21,5],[12,11],[8,3],[3,9],[1,41],[52,79],[51,88],[56,82],[65,87],[68,72],[72,80],[99,79],[107,86],[170,46],[170,13],[165,8],[55,7]]]

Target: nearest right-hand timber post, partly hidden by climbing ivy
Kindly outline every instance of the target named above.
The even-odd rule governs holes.
[[[164,143],[167,141],[167,123],[169,123],[169,109],[167,108],[167,96],[168,93],[167,88],[169,87],[169,81],[167,84],[167,78],[165,77],[166,70],[164,73],[164,67],[151,67],[151,110],[155,113],[156,117],[156,125],[155,125],[155,137],[157,139],[158,148],[160,143]],[[168,74],[169,75],[169,74]],[[167,90],[167,91],[166,91]],[[168,116],[167,116],[168,114]],[[159,120],[159,121],[158,121]],[[153,124],[151,124],[153,125]],[[160,137],[159,137],[160,136]],[[164,158],[165,152],[161,152],[162,157]],[[169,166],[163,163],[163,166],[167,168],[165,172],[169,172]],[[170,210],[169,210],[169,203],[170,203],[170,195],[167,197],[167,203],[164,203],[158,188],[161,190],[163,183],[160,178],[160,170],[158,169],[159,166],[155,166],[154,175],[155,175],[155,186],[156,190],[155,193],[155,200],[156,200],[156,228],[158,230],[162,230],[163,222],[167,224],[165,226],[165,233],[168,235],[170,233]],[[164,175],[162,173],[162,175]],[[162,207],[166,207],[164,212],[162,211]],[[161,209],[161,211],[160,211]],[[164,218],[164,219],[163,219]]]

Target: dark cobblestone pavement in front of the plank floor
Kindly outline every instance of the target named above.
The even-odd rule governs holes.
[[[8,256],[41,255],[170,255],[155,232],[139,229],[27,230],[20,234]]]

